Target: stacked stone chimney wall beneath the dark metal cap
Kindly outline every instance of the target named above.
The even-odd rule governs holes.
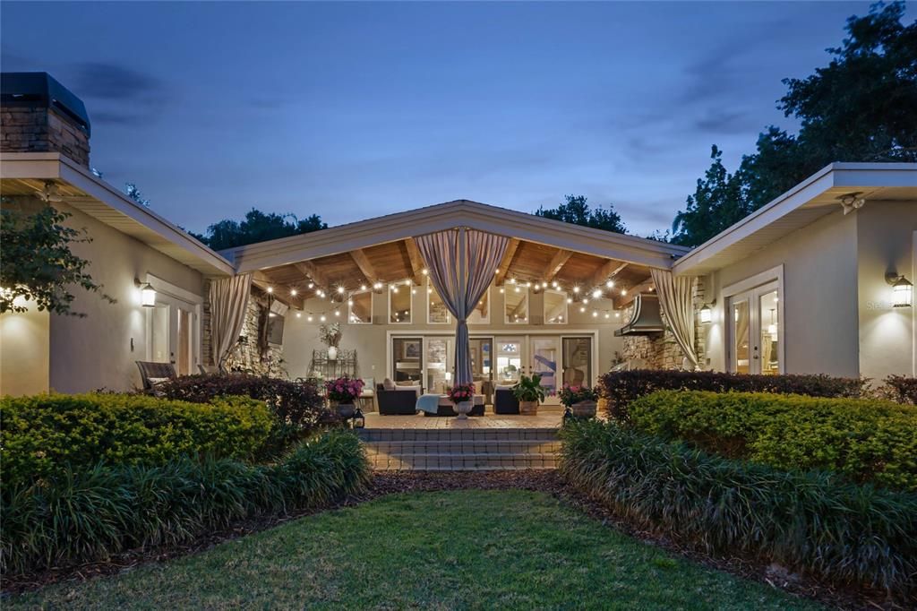
[[[4,106],[0,119],[0,151],[60,152],[89,167],[89,137],[53,108]]]

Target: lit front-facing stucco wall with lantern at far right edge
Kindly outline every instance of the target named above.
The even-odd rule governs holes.
[[[914,307],[892,307],[887,272],[914,282],[917,202],[867,202],[856,212],[860,372],[913,375]]]

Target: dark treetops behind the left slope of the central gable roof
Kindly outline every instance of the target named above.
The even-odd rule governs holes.
[[[205,235],[192,235],[214,250],[224,250],[267,239],[296,236],[327,227],[317,215],[300,220],[292,214],[264,213],[252,208],[242,221],[225,218],[208,227]]]

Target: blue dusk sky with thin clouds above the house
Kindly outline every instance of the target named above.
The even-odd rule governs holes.
[[[666,229],[867,2],[15,3],[0,67],[83,99],[91,163],[203,231],[583,194]],[[912,14],[913,10],[909,10]]]

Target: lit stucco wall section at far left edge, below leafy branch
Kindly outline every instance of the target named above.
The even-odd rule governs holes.
[[[0,315],[0,395],[48,392],[49,333],[48,312],[34,304],[28,312]]]

